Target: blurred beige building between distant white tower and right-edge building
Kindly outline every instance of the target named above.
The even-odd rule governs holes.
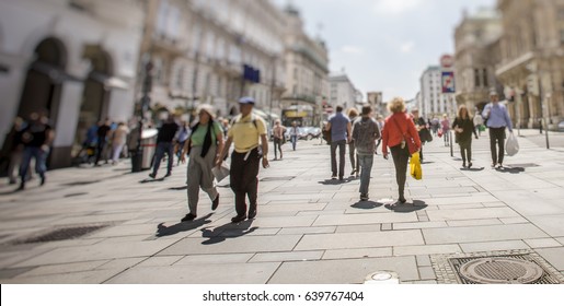
[[[456,99],[471,111],[483,109],[490,101],[490,91],[499,90],[492,48],[500,35],[500,15],[485,8],[472,15],[464,13],[454,31]]]

